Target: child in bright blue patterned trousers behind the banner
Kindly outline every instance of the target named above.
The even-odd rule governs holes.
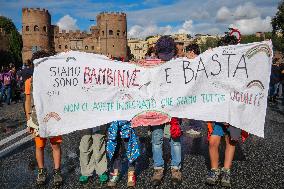
[[[107,154],[112,169],[107,184],[109,187],[115,187],[120,179],[123,146],[128,159],[127,186],[134,187],[136,185],[135,164],[140,156],[138,141],[139,139],[129,121],[113,121],[111,123],[108,128],[107,141]]]

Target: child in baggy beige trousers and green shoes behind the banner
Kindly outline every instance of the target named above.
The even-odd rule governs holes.
[[[104,184],[108,180],[106,159],[106,125],[83,130],[80,142],[80,183],[86,184],[94,170],[99,175],[99,181]]]

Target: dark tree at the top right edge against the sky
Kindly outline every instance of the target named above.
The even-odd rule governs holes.
[[[284,53],[284,1],[279,3],[278,11],[271,20],[272,43],[275,50]]]

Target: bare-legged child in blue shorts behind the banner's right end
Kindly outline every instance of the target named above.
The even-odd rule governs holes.
[[[219,45],[237,44],[235,36],[225,36],[219,41]],[[231,187],[231,167],[235,154],[236,144],[240,137],[246,138],[247,133],[226,123],[208,122],[209,156],[211,170],[206,178],[206,183],[216,185],[221,179],[221,185]],[[225,138],[225,161],[224,166],[219,168],[219,146],[221,137]]]

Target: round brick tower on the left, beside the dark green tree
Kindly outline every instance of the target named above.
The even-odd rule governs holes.
[[[51,19],[48,10],[22,9],[22,58],[25,63],[36,51],[51,49]]]

